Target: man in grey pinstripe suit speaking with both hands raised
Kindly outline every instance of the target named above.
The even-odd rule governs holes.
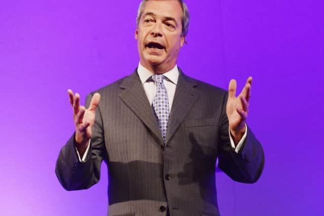
[[[219,215],[215,163],[233,180],[254,183],[264,155],[246,125],[252,78],[235,97],[177,67],[189,13],[178,0],[140,5],[139,67],[88,95],[69,90],[75,134],[56,174],[66,190],[87,189],[108,165],[108,215]],[[99,103],[100,102],[100,103]]]

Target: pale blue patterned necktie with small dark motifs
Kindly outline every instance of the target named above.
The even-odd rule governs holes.
[[[163,84],[164,75],[154,74],[152,79],[156,85],[156,95],[153,98],[152,107],[155,112],[157,125],[160,129],[164,143],[166,143],[168,121],[169,121],[169,99],[165,85]]]

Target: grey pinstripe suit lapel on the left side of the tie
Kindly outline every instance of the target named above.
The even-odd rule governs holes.
[[[124,89],[119,95],[120,99],[142,120],[150,129],[160,144],[163,144],[161,133],[158,129],[156,118],[152,107],[149,104],[141,80],[137,74],[137,69],[126,77],[119,86]]]

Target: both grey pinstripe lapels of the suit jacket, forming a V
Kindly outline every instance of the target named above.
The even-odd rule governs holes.
[[[197,81],[185,75],[179,67],[178,70],[179,78],[168,123],[167,144],[199,98],[199,92],[196,88],[198,85]],[[159,144],[163,144],[156,118],[143,89],[137,68],[123,80],[119,88],[124,89],[119,95],[120,99],[150,129]]]

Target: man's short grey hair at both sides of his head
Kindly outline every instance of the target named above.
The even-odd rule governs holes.
[[[142,0],[142,2],[140,3],[140,6],[138,8],[138,12],[137,12],[137,17],[136,17],[136,25],[138,26],[141,16],[143,14],[143,10],[145,7],[146,2],[148,2],[149,0]],[[189,22],[190,22],[190,14],[189,14],[189,10],[187,5],[182,1],[182,0],[178,0],[178,2],[180,3],[181,7],[182,7],[182,18],[181,18],[181,23],[182,23],[182,35],[187,35],[188,30],[189,30]]]

